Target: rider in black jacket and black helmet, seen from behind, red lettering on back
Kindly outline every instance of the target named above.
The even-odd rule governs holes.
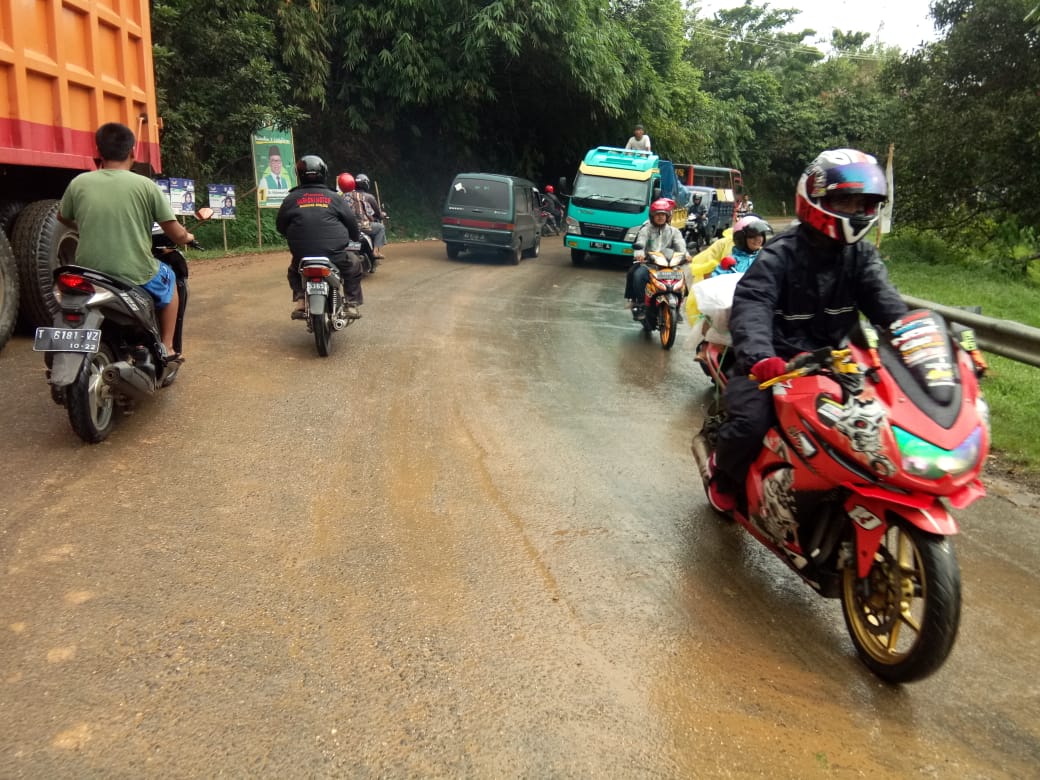
[[[326,184],[329,168],[317,155],[309,154],[296,163],[300,184],[289,190],[278,209],[276,227],[289,241],[289,287],[292,288],[293,319],[306,317],[300,261],[305,257],[328,257],[343,277],[346,316],[361,316],[361,261],[346,251],[349,241],[360,241],[358,220],[342,198]]]

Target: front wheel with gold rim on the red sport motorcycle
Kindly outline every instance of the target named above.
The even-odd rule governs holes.
[[[892,523],[866,577],[855,566],[844,570],[841,612],[874,674],[887,682],[928,677],[950,655],[960,625],[961,573],[950,540]]]

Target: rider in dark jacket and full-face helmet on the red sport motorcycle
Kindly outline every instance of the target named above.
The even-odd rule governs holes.
[[[906,314],[877,249],[860,241],[887,193],[873,156],[822,152],[798,181],[800,224],[770,241],[736,285],[730,331],[738,372],[726,386],[729,416],[708,461],[708,500],[718,511],[735,509],[776,419],[773,395],[758,383],[784,373],[799,353],[840,343],[859,311],[882,328]]]

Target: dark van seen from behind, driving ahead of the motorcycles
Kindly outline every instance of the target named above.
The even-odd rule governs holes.
[[[464,251],[497,252],[517,265],[538,257],[542,217],[534,182],[500,174],[459,174],[441,214],[441,238],[452,260]]]

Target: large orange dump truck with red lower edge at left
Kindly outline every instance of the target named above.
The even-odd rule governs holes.
[[[135,170],[161,171],[149,0],[0,0],[0,348],[16,324],[51,324],[57,265],[78,237],[66,186],[97,167],[94,133],[137,135]]]

